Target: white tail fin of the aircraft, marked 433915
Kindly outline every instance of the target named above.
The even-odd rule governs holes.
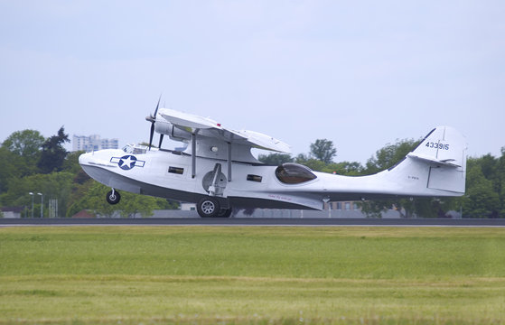
[[[416,149],[407,154],[425,165],[427,191],[440,195],[463,195],[466,179],[466,140],[451,126],[437,126]]]

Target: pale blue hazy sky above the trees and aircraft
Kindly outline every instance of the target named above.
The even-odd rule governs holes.
[[[61,125],[147,142],[161,95],[295,155],[327,139],[335,162],[365,163],[452,125],[469,155],[499,156],[503,17],[482,0],[0,0],[0,142]]]

